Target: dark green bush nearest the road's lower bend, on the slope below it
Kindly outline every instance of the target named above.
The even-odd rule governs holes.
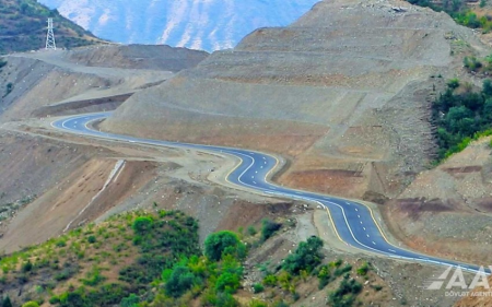
[[[297,275],[301,270],[312,272],[321,263],[323,240],[318,237],[311,237],[307,241],[300,243],[297,249],[289,255],[282,263],[282,269],[291,274]]]

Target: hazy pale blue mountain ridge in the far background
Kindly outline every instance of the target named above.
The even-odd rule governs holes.
[[[38,1],[105,39],[213,51],[258,27],[285,26],[319,0]]]

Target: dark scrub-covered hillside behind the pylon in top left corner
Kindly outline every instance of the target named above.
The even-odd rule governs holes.
[[[35,0],[0,0],[0,55],[44,48],[48,17],[54,19],[58,47],[72,48],[98,40]]]

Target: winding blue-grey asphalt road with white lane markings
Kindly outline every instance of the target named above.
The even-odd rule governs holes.
[[[371,209],[368,209],[364,204],[308,191],[293,190],[269,182],[268,177],[279,163],[274,156],[256,151],[247,151],[241,149],[140,139],[128,135],[106,133],[89,128],[89,123],[97,120],[103,120],[109,115],[110,113],[78,115],[69,118],[58,119],[51,122],[51,126],[56,129],[60,129],[74,134],[83,134],[139,144],[194,149],[229,154],[238,157],[241,160],[241,164],[227,175],[227,181],[243,188],[253,189],[255,191],[271,196],[313,201],[318,203],[327,210],[327,213],[336,227],[336,233],[339,239],[350,246],[390,258],[426,262],[432,264],[460,267],[462,270],[471,272],[477,272],[479,270],[478,265],[430,257],[391,245],[385,238]]]

